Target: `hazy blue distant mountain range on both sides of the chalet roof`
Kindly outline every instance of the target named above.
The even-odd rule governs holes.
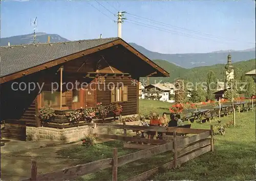
[[[45,43],[48,40],[48,36],[50,36],[50,42],[63,42],[69,41],[66,38],[59,36],[58,34],[47,34],[47,33],[36,33],[37,43]],[[8,42],[11,45],[14,44],[28,44],[33,42],[33,34],[26,35],[18,35],[11,36],[6,38],[1,38],[1,46],[7,46]],[[170,63],[173,63],[177,66],[190,69],[193,67],[199,66],[209,66],[215,64],[223,64],[227,62],[227,55],[230,52],[232,56],[232,62],[239,62],[249,59],[255,58],[255,48],[247,49],[247,50],[221,50],[210,53],[187,53],[187,54],[162,54],[158,52],[152,52],[150,50],[145,49],[142,46],[139,46],[136,43],[130,42],[131,46],[133,46],[136,50],[144,54],[146,57],[156,60],[166,60]],[[164,67],[164,66],[163,66]]]

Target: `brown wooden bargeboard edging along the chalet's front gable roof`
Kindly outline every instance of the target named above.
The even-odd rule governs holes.
[[[86,56],[86,55],[89,55],[89,54],[92,54],[92,53],[95,53],[95,52],[98,52],[98,51],[101,51],[104,49],[108,49],[113,46],[117,46],[118,44],[121,44],[123,47],[125,47],[127,50],[129,50],[130,52],[135,54],[141,60],[150,64],[156,70],[156,72],[161,73],[162,77],[169,77],[169,73],[167,71],[165,71],[160,66],[158,66],[156,63],[154,63],[152,60],[150,60],[149,58],[147,58],[146,56],[141,54],[139,51],[134,49],[129,43],[127,43],[123,39],[119,38],[119,39],[113,40],[111,42],[101,44],[100,46],[97,46],[97,47],[93,47],[93,48],[86,49],[86,50],[83,50],[80,52],[76,52],[74,54],[70,54],[65,57],[57,58],[57,59],[48,61],[46,63],[42,63],[40,65],[30,67],[29,69],[26,69],[23,71],[19,71],[19,72],[10,74],[10,75],[3,76],[0,79],[0,83],[5,83],[5,82],[8,82],[8,81],[11,81],[11,80],[14,80],[14,79],[26,76],[26,75],[30,75],[30,74],[33,74],[33,73],[36,73],[36,72],[39,72],[42,70],[46,70],[46,69],[49,69],[50,67],[74,60],[76,58],[83,57],[83,56]],[[149,76],[152,76],[152,75],[149,75]]]

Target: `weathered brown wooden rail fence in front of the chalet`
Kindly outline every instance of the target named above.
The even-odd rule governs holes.
[[[123,156],[118,156],[117,148],[113,149],[113,157],[109,159],[98,160],[95,162],[90,162],[87,164],[77,165],[70,168],[66,168],[59,171],[54,171],[51,173],[39,174],[37,175],[36,162],[32,161],[31,167],[31,178],[24,179],[23,181],[46,181],[46,180],[74,180],[80,176],[99,172],[106,168],[112,167],[112,180],[117,181],[118,167],[131,162],[138,161],[140,159],[150,158],[154,155],[164,153],[166,151],[172,151],[174,153],[173,161],[168,162],[160,167],[143,172],[132,178],[126,179],[125,181],[132,180],[145,180],[151,177],[153,174],[159,172],[161,169],[176,169],[182,163],[185,163],[195,157],[200,156],[208,151],[214,151],[214,132],[212,130],[212,125],[210,129],[191,129],[191,128],[174,128],[174,127],[150,127],[150,126],[130,126],[130,125],[113,125],[113,124],[90,124],[93,127],[105,127],[105,128],[117,128],[124,129],[124,135],[108,135],[108,134],[97,134],[99,137],[111,138],[117,140],[126,141],[138,141],[148,144],[160,144],[154,145],[153,147],[143,149],[137,152],[126,154]],[[173,140],[153,140],[153,139],[143,139],[136,137],[127,137],[126,130],[151,130],[151,131],[161,131],[161,132],[173,132]],[[189,133],[196,134],[191,137],[180,137],[178,139],[177,133]],[[210,138],[208,138],[210,137]],[[150,145],[149,145],[150,146]],[[152,146],[152,145],[151,145]]]

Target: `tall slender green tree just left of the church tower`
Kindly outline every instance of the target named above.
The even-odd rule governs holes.
[[[216,89],[216,75],[213,71],[207,73],[206,86],[206,100],[214,100],[215,95],[213,90]]]

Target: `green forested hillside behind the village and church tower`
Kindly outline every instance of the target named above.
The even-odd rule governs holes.
[[[150,78],[151,83],[154,83],[155,80],[157,82],[160,80],[163,80],[163,82],[174,82],[177,78],[181,78],[188,82],[205,82],[206,74],[210,70],[215,72],[216,78],[219,80],[223,80],[225,76],[225,64],[216,64],[211,66],[194,67],[192,69],[184,69],[165,60],[153,61],[159,66],[163,67],[163,69],[170,74],[170,77]],[[255,63],[255,59],[233,63],[235,70],[234,74],[241,76],[242,74],[255,69]]]

